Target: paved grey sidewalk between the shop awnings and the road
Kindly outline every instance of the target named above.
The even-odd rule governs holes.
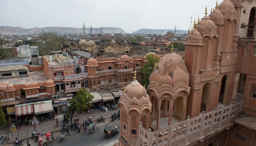
[[[116,110],[108,109],[108,112],[102,111],[101,109],[91,109],[90,113],[85,112],[84,114],[81,114],[80,112],[77,112],[77,115],[73,116],[73,119],[79,118],[79,122],[83,123],[84,120],[87,120],[88,116],[91,116],[91,120],[96,121],[101,116],[103,116],[103,118],[109,118],[109,117],[111,117],[111,115],[113,113],[117,114],[119,109],[120,109],[120,107],[117,107]],[[58,127],[56,126],[56,120],[51,120],[51,119],[46,118],[46,117],[43,118],[42,123],[40,123],[39,125],[35,125],[36,126],[36,132],[40,133],[40,135],[45,135],[48,132],[59,131],[60,128],[61,128],[61,122],[63,120],[63,115],[64,114],[55,115],[55,117],[57,117],[58,121],[59,121],[59,126]],[[10,132],[11,139],[9,139],[9,127],[4,128],[3,131],[1,130],[1,133],[7,135],[5,141],[8,140],[8,143],[12,143],[15,140],[16,137],[18,139],[30,138],[32,136],[33,131],[34,131],[34,128],[33,128],[32,125],[25,125],[25,123],[23,123],[22,127],[20,127],[19,129],[15,130],[15,131]],[[4,141],[3,144],[6,143],[5,141]]]

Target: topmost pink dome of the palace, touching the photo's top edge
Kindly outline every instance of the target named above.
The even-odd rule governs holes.
[[[221,2],[217,9],[224,15],[225,20],[230,19],[233,21],[233,19],[235,19],[235,6],[229,0],[224,0]]]

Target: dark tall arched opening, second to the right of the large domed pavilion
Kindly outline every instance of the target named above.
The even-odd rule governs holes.
[[[225,103],[226,103],[228,81],[229,81],[228,76],[224,75],[221,80],[220,96],[219,96],[219,103],[221,103],[223,105],[225,105]]]

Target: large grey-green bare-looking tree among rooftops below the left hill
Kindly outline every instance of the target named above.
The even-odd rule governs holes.
[[[51,51],[61,50],[61,44],[67,43],[68,40],[62,36],[58,36],[58,32],[45,32],[39,34],[38,38],[40,41],[36,42],[38,47],[39,55],[49,55]]]

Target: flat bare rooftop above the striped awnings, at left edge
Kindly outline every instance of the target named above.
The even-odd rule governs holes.
[[[27,82],[45,82],[47,81],[47,77],[44,73],[43,70],[39,71],[33,71],[29,72],[28,77],[16,77],[16,78],[8,78],[8,79],[0,79],[0,83],[5,83],[5,84],[25,84]]]

